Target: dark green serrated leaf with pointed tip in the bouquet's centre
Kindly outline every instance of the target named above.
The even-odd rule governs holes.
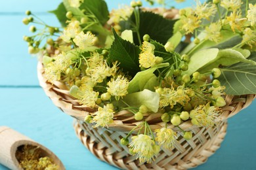
[[[135,46],[135,44],[121,39],[114,29],[112,31],[115,40],[110,48],[108,62],[113,63],[114,61],[118,61],[119,67],[123,69],[123,72],[128,72],[129,75],[135,76],[140,71],[139,46]]]

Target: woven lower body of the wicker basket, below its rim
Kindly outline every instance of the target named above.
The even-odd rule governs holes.
[[[139,163],[129,154],[127,146],[119,143],[128,132],[93,128],[79,120],[74,123],[75,133],[81,142],[100,160],[121,169],[188,169],[204,163],[220,147],[226,135],[226,122],[213,128],[194,128],[193,138],[184,140],[181,135],[172,150],[161,149],[156,161]]]

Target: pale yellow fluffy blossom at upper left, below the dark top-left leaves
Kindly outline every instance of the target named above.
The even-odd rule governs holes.
[[[95,44],[96,37],[91,32],[86,34],[81,31],[79,34],[75,35],[74,42],[81,50],[93,46]]]

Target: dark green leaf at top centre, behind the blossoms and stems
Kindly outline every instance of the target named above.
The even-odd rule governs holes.
[[[140,10],[140,24],[139,34],[140,39],[143,39],[145,34],[150,35],[151,39],[154,39],[160,43],[165,44],[168,39],[173,35],[173,25],[175,20],[167,20],[158,14],[152,12],[144,12]],[[131,15],[129,21],[123,21],[120,23],[122,30],[133,29],[131,23],[135,22],[135,14]],[[137,33],[133,33],[135,44],[139,44]]]

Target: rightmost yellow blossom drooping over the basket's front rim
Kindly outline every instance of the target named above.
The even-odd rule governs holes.
[[[200,105],[196,109],[190,111],[190,117],[192,118],[192,124],[196,126],[212,127],[218,122],[219,110],[210,106],[209,103],[206,105]]]

